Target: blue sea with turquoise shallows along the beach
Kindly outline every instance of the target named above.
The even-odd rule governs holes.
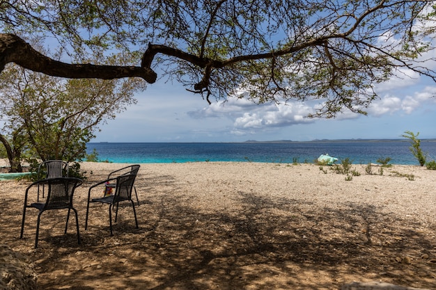
[[[242,161],[313,163],[321,154],[350,159],[353,164],[377,163],[419,165],[408,140],[244,142],[244,143],[88,143],[87,153],[98,153],[99,161],[113,163],[185,163],[198,161]],[[421,150],[436,159],[436,141],[421,140]]]

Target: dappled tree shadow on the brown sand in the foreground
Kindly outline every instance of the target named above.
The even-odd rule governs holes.
[[[319,207],[249,190],[229,197],[238,207],[203,211],[171,176],[143,178],[137,190],[153,192],[157,184],[167,190],[140,197],[139,229],[132,209],[120,207],[109,236],[104,207],[93,211],[84,231],[82,195],[81,245],[74,223],[65,236],[56,216],[41,224],[40,248],[31,248],[30,219],[26,239],[17,239],[21,200],[14,198],[1,204],[1,232],[33,259],[40,289],[338,289],[349,279],[431,288],[435,282],[435,228],[413,218],[370,204]]]

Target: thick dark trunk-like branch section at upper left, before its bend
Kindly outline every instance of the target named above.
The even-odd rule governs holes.
[[[148,67],[68,64],[55,61],[40,54],[17,35],[0,33],[0,72],[7,63],[16,63],[33,72],[68,79],[120,79],[137,76],[148,83],[154,83],[157,78],[157,74]]]

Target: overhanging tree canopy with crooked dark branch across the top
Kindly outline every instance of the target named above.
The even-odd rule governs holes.
[[[0,3],[0,70],[17,63],[67,78],[159,76],[210,97],[318,99],[316,115],[365,113],[373,90],[403,68],[436,81],[433,1],[41,0]],[[24,40],[45,37],[61,61]],[[88,63],[124,53],[131,63]],[[67,57],[68,56],[68,57]],[[69,61],[66,61],[66,60]],[[401,75],[400,75],[401,76]],[[406,77],[407,75],[403,75]]]

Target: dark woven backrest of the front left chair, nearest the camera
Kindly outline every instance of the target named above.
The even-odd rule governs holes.
[[[40,183],[47,186],[47,200],[44,209],[68,209],[72,207],[72,195],[77,186],[83,182],[75,177],[57,177],[42,179]]]

